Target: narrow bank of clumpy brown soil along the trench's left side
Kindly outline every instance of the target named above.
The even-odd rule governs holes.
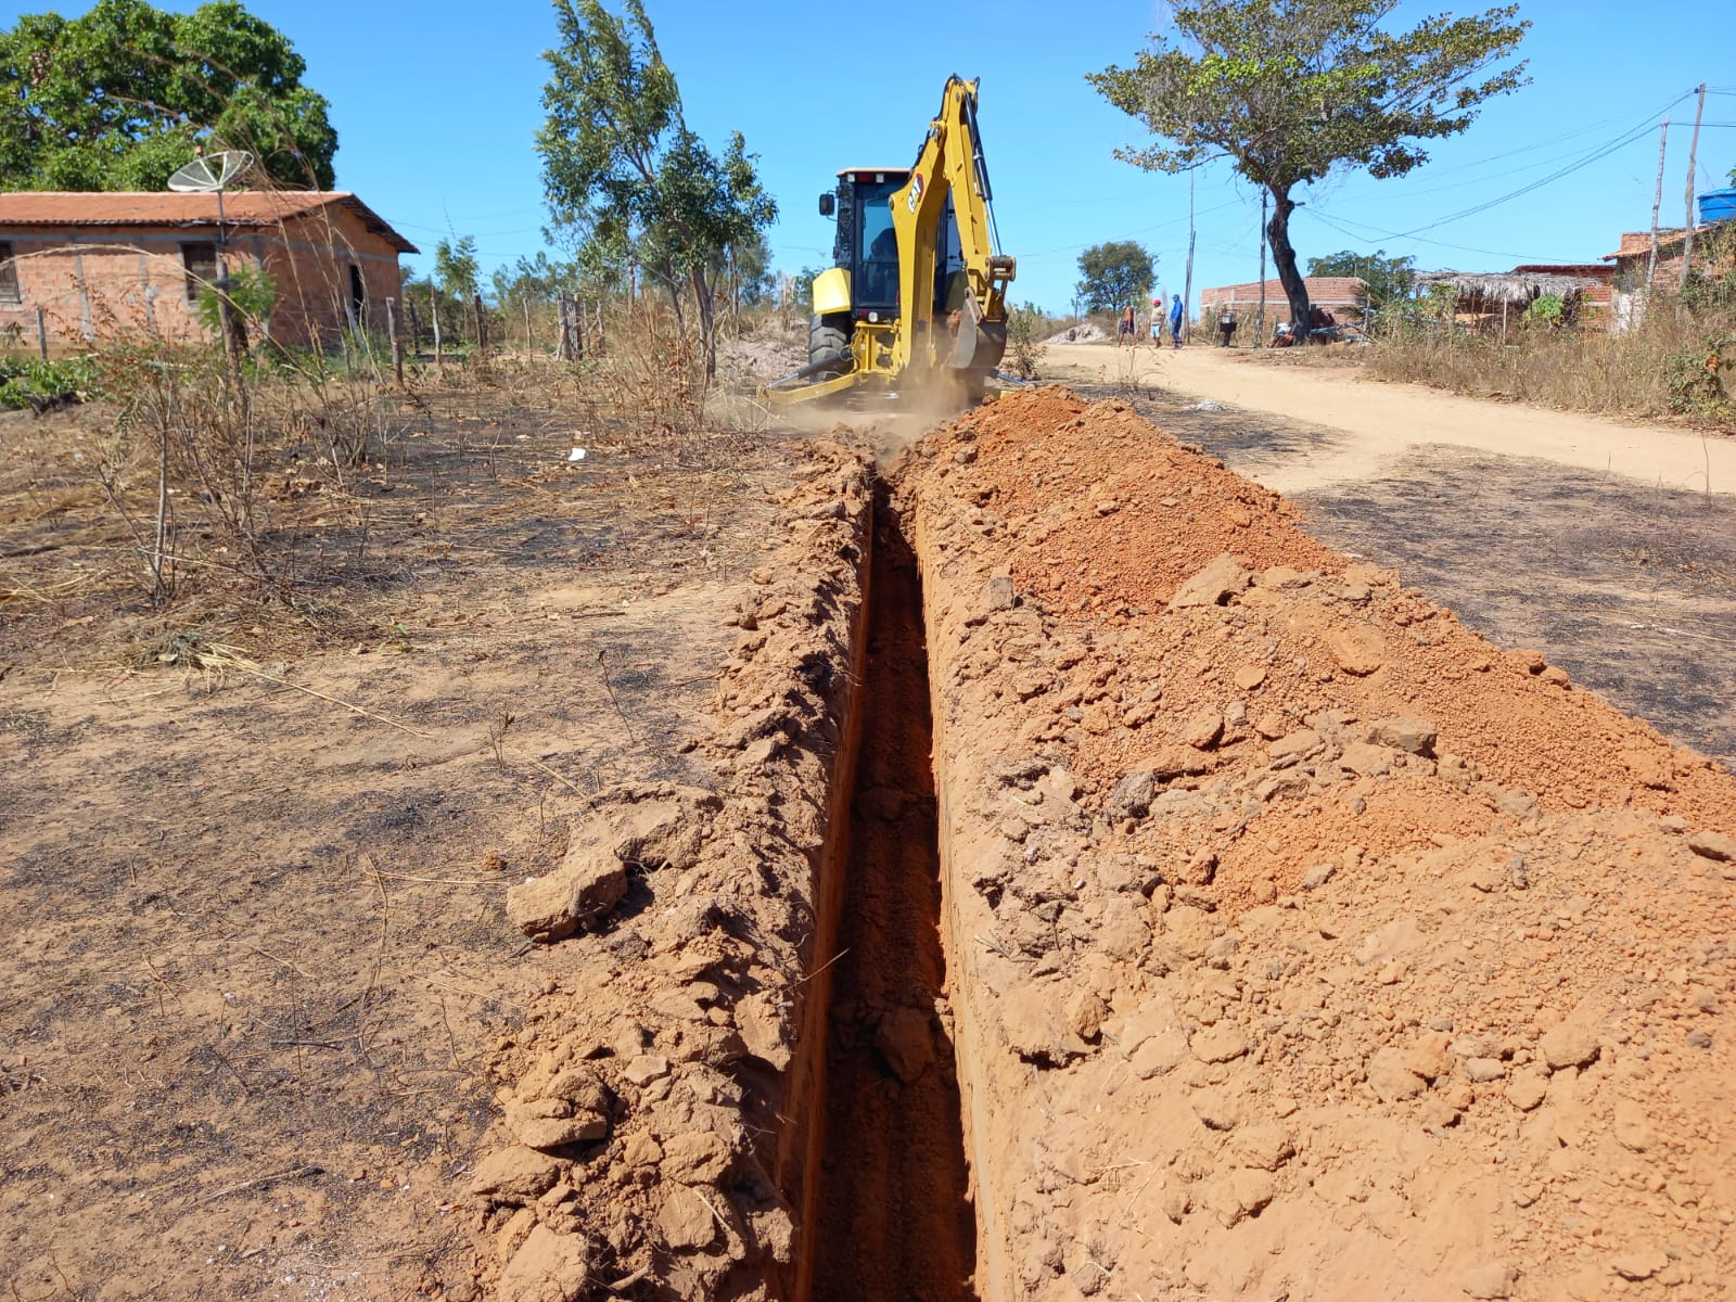
[[[871,514],[858,457],[811,457],[689,743],[715,783],[604,790],[562,865],[509,894],[564,976],[491,1062],[469,1193],[498,1302],[793,1295]]]

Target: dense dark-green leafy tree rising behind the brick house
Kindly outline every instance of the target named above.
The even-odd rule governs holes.
[[[337,132],[306,71],[236,0],[24,14],[0,31],[0,189],[165,189],[201,146],[247,149],[283,186],[332,189]]]

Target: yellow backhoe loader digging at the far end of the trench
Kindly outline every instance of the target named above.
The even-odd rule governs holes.
[[[951,76],[908,168],[851,167],[819,196],[837,266],[814,278],[807,366],[773,403],[983,398],[1007,351],[1007,283],[977,132],[977,83]]]

